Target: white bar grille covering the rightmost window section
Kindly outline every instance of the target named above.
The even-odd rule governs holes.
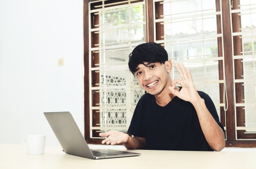
[[[232,51],[233,62],[237,60],[243,62],[243,76],[234,77],[234,85],[241,84],[245,90],[244,102],[239,103],[235,100],[235,106],[243,107],[245,111],[245,124],[238,125],[236,123],[236,131],[244,130],[245,133],[256,133],[256,0],[240,0],[240,5],[231,10],[231,14],[239,16],[241,20],[239,29],[231,30],[232,40],[236,37],[242,40],[242,51],[236,54]],[[232,20],[232,22],[236,21]],[[236,122],[238,120],[237,113],[240,112],[235,112]],[[244,138],[239,138],[236,135],[236,139],[243,140]]]

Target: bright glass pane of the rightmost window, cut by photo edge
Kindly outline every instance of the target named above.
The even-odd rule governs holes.
[[[245,127],[246,132],[256,132],[256,0],[240,0],[240,9],[235,16],[240,16],[241,27],[238,33],[241,34],[242,52],[239,56],[243,62],[243,76],[239,77],[244,80],[244,104]],[[234,21],[233,21],[234,22]],[[239,92],[239,91],[237,91]],[[238,103],[238,101],[236,101]],[[236,112],[241,113],[241,112]],[[239,120],[239,119],[238,119]]]

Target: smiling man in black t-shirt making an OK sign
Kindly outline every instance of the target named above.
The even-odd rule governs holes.
[[[140,44],[129,55],[129,69],[144,94],[128,133],[108,131],[102,144],[123,143],[127,149],[221,151],[224,128],[211,98],[197,91],[189,69],[176,64],[181,80],[171,80],[172,62],[157,43]],[[177,87],[176,84],[181,87]]]

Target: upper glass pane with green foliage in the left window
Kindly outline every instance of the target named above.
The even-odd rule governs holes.
[[[116,7],[100,12],[101,44],[130,41],[144,42],[143,5]],[[109,44],[112,46],[112,44]]]

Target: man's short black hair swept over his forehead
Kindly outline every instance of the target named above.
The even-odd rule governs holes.
[[[168,60],[167,51],[160,45],[155,42],[148,42],[139,44],[135,47],[129,55],[128,66],[130,72],[135,75],[135,71],[139,64],[146,63],[165,63]]]

